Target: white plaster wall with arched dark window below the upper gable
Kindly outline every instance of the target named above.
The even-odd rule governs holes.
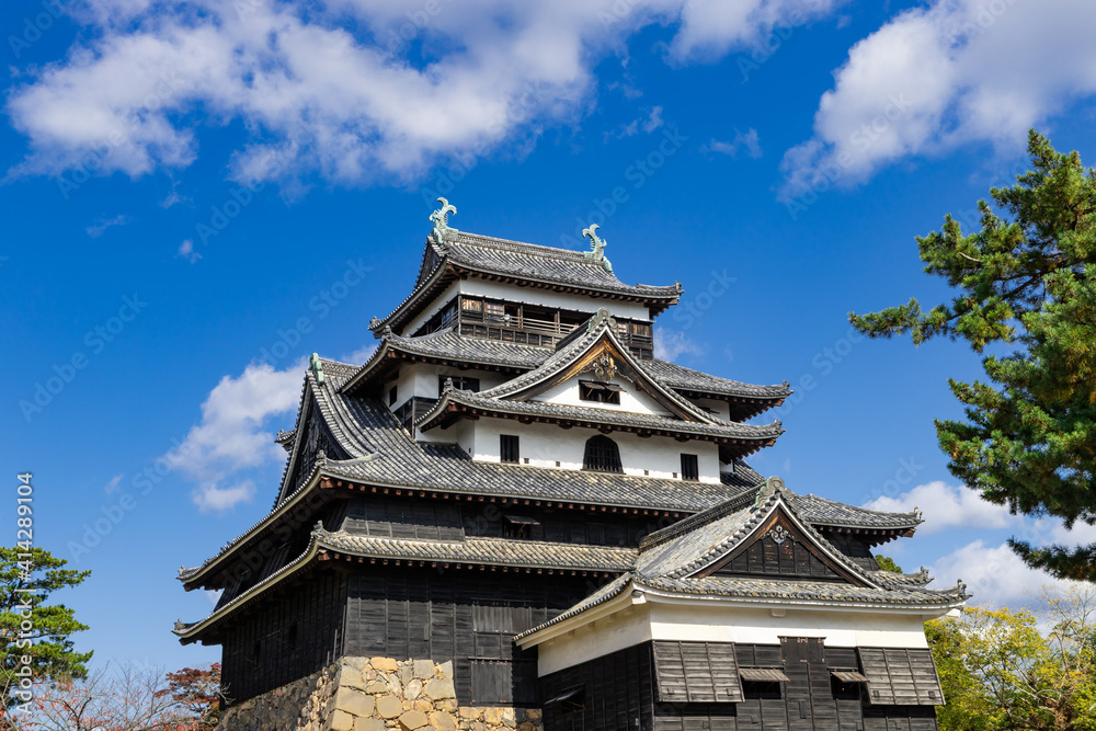
[[[475,432],[471,439],[472,459],[499,461],[499,436],[516,434],[521,437],[522,464],[528,459],[529,468],[555,468],[559,461],[560,469],[581,470],[586,439],[600,433],[593,429],[561,429],[555,424],[522,424],[510,419],[486,418],[467,424]],[[432,430],[435,431],[438,430]],[[445,431],[453,432],[453,429]],[[680,479],[681,455],[684,452],[697,455],[701,482],[719,481],[719,449],[715,444],[681,443],[669,436],[640,438],[635,434],[618,432],[609,434],[609,438],[620,449],[620,464],[625,475],[674,479],[674,473],[678,473]],[[436,441],[453,442],[454,438],[448,436]],[[647,475],[643,473],[644,470]],[[688,484],[689,482],[682,481],[682,489],[687,490]]]

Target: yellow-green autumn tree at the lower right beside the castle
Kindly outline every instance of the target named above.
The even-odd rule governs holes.
[[[926,623],[947,700],[940,731],[1096,730],[1094,597],[1044,595],[1039,617],[967,608]]]

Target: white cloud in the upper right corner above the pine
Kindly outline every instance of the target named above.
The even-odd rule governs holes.
[[[813,136],[785,156],[783,194],[966,142],[1018,151],[1028,128],[1096,92],[1094,25],[1089,0],[935,0],[899,14],[835,72]]]

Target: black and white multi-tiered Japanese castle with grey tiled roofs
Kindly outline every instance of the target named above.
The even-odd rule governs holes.
[[[658,358],[683,288],[620,282],[596,226],[576,252],[441,202],[369,359],[302,374],[273,509],[180,571],[221,592],[174,631],[222,647],[222,728],[936,729],[923,624],[968,595],[872,555],[920,512],[751,469],[787,382]],[[319,723],[244,720],[294,704]]]

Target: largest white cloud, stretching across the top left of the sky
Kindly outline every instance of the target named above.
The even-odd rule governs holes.
[[[9,93],[30,140],[10,174],[182,168],[198,155],[198,126],[239,121],[249,138],[229,161],[236,180],[403,180],[576,119],[592,108],[594,64],[624,56],[641,27],[677,23],[670,54],[681,60],[833,3],[472,0],[433,14],[395,0],[88,4],[89,39]],[[425,57],[412,55],[420,46]]]

